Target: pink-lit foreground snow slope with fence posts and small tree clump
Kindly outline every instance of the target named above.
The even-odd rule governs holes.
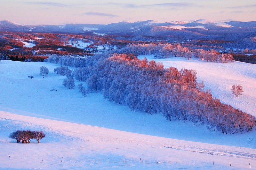
[[[44,130],[47,137],[40,144],[17,144],[6,138],[21,127]],[[256,165],[256,149],[181,141],[2,111],[0,128],[0,169],[247,169],[248,163]]]

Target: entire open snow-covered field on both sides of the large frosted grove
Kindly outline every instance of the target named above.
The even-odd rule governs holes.
[[[196,69],[198,79],[204,80],[214,96],[253,114],[255,65],[155,60],[163,61],[165,67]],[[44,78],[39,75],[42,65],[49,68]],[[0,169],[248,169],[249,163],[256,169],[255,130],[221,134],[190,122],[133,112],[106,102],[100,92],[85,98],[77,87],[68,90],[62,86],[66,77],[53,73],[57,66],[0,63]],[[28,79],[30,75],[34,78]],[[236,80],[244,87],[238,98],[230,94]],[[50,91],[52,88],[57,91]],[[44,130],[47,136],[40,144],[17,144],[8,138],[16,129]]]

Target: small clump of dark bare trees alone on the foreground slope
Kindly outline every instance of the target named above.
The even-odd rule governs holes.
[[[39,144],[40,140],[45,137],[45,133],[43,131],[16,130],[9,137],[16,139],[17,143],[22,141],[23,144],[29,144],[32,139],[36,139]]]

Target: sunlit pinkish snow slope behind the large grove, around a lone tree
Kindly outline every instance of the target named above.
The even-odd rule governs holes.
[[[161,62],[164,67],[195,69],[198,81],[203,80],[205,89],[211,89],[214,97],[221,102],[231,104],[244,112],[256,116],[256,65],[234,61],[233,63],[212,63],[199,59],[172,57],[155,59],[153,55],[140,55],[148,60]],[[242,85],[244,92],[237,98],[231,94],[232,85]]]

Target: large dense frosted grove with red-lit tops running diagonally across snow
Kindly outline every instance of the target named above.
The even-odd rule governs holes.
[[[162,63],[131,54],[102,54],[82,60],[84,67],[75,70],[75,78],[86,81],[91,91],[102,91],[112,103],[195,126],[204,124],[222,133],[242,133],[255,127],[252,115],[222,104],[210,90],[204,91],[204,83],[196,81],[196,70],[164,69]]]

